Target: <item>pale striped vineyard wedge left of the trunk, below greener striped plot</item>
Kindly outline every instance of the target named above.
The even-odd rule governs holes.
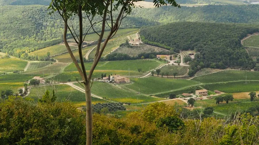
[[[55,62],[51,65],[48,65],[42,68],[37,68],[37,69],[23,72],[22,74],[42,74],[42,75],[59,74],[62,72],[62,69],[67,65],[68,63]]]

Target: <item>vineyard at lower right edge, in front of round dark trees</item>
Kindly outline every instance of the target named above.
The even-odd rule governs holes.
[[[229,113],[235,113],[236,111],[245,111],[249,107],[255,107],[259,104],[259,99],[254,99],[254,101],[250,101],[250,99],[234,99],[230,101],[228,104],[225,102],[216,104],[214,99],[208,100],[198,100],[195,102],[195,107],[213,107],[214,111],[218,113],[223,113],[225,115]]]

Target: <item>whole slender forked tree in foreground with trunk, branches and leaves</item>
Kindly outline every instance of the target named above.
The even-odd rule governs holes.
[[[63,41],[71,56],[71,59],[75,63],[75,66],[81,76],[82,82],[85,87],[85,99],[86,99],[86,132],[87,141],[86,144],[92,144],[92,100],[91,100],[91,82],[92,74],[96,68],[102,53],[108,43],[108,41],[113,38],[119,29],[123,18],[132,12],[132,8],[135,7],[134,2],[141,0],[52,0],[49,9],[58,11],[60,16],[64,21],[64,34]],[[180,7],[175,0],[153,0],[155,7],[160,7],[161,5],[173,5],[175,7]],[[117,14],[114,14],[118,12]],[[95,17],[100,20],[96,21]],[[68,20],[76,19],[78,20],[79,30],[74,30],[73,25],[68,23]],[[89,26],[83,29],[83,19],[88,21]],[[100,33],[98,33],[94,26],[101,25]],[[104,38],[104,31],[109,29],[108,36],[105,38],[103,45],[101,46],[102,40]],[[84,63],[77,62],[70,46],[67,42],[67,31],[69,30],[71,36],[78,44],[79,60],[83,62],[82,54],[82,44],[84,42],[85,36],[88,34],[89,30],[92,30],[99,36],[96,52],[94,57],[94,62],[89,69],[89,73],[86,73],[86,68]]]

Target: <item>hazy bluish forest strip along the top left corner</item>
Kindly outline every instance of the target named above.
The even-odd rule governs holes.
[[[51,0],[0,0],[1,5],[49,5]]]

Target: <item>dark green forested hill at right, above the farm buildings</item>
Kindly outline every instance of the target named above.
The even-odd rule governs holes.
[[[254,32],[259,32],[257,25],[207,22],[176,22],[140,29],[143,42],[199,52],[190,62],[190,76],[201,68],[254,68],[255,63],[240,41]]]

